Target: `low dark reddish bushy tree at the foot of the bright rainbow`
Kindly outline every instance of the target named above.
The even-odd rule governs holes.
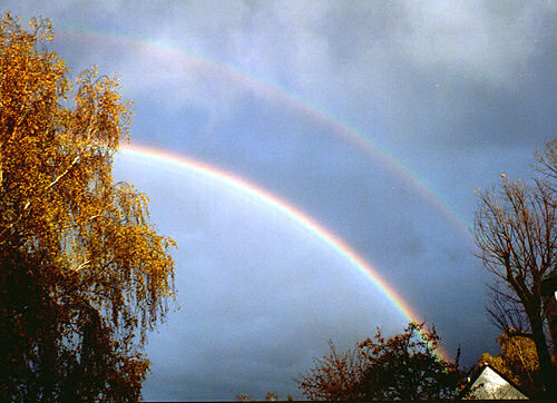
[[[296,380],[311,400],[439,400],[455,399],[462,376],[457,363],[437,355],[439,336],[423,324],[410,323],[403,333],[373,340],[354,350],[314,358],[314,366]]]

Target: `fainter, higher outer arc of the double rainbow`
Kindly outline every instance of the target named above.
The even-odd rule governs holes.
[[[184,49],[179,49],[168,42],[155,42],[145,38],[137,39],[114,32],[107,35],[75,26],[66,26],[65,29],[57,33],[62,37],[69,37],[70,39],[72,37],[77,37],[79,40],[85,39],[88,41],[101,41],[105,43],[116,42],[117,45],[125,45],[126,47],[144,50],[153,53],[157,58],[172,60],[175,63],[189,66],[207,75],[222,77],[229,82],[236,82],[242,89],[252,91],[260,97],[271,99],[275,102],[280,102],[299,114],[310,117],[319,125],[322,125],[332,132],[342,136],[349,141],[349,144],[353,145],[360,151],[364,153],[394,173],[405,186],[413,189],[423,199],[428,200],[428,203],[430,203],[430,205],[432,205],[441,214],[441,216],[453,227],[453,229],[460,234],[463,240],[470,245],[473,243],[469,224],[455,213],[449,207],[447,202],[444,202],[442,197],[437,195],[431,189],[431,186],[428,185],[424,179],[419,178],[416,174],[405,168],[390,151],[373,145],[370,139],[355,127],[351,126],[346,121],[343,121],[340,117],[313,104],[312,101],[302,99],[301,97],[292,94],[286,88],[282,88],[268,80],[254,78],[248,72],[244,72],[236,67],[221,61],[209,60]]]

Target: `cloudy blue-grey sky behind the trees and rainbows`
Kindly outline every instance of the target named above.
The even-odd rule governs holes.
[[[293,377],[329,340],[402,331],[408,317],[340,245],[448,356],[496,352],[475,190],[527,180],[557,134],[556,1],[0,9],[49,18],[72,77],[98,65],[134,101],[130,145],[150,151],[119,154],[115,178],[178,243],[179,309],[150,334],[146,400],[301,399]]]

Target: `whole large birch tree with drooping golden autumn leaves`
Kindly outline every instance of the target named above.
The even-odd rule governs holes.
[[[74,90],[50,22],[29,26],[0,24],[0,400],[138,400],[175,243],[113,180],[130,114],[117,80],[94,68]]]

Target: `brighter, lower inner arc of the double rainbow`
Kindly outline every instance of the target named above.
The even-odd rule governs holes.
[[[148,161],[159,166],[167,166],[178,173],[194,174],[199,178],[217,183],[225,188],[238,191],[248,199],[253,199],[261,205],[265,205],[268,208],[285,215],[293,223],[312,234],[312,236],[320,239],[328,247],[334,249],[342,258],[350,263],[352,267],[356,268],[365,278],[371,281],[377,289],[397,307],[407,321],[423,322],[421,316],[413,311],[384,279],[378,275],[377,269],[374,269],[372,265],[367,263],[365,259],[363,259],[343,239],[334,235],[331,230],[292,204],[278,198],[262,187],[247,181],[246,179],[190,157],[137,145],[121,146],[120,151],[126,156],[139,160],[139,163]],[[443,360],[447,360],[448,357],[441,347],[438,348],[438,355]]]

